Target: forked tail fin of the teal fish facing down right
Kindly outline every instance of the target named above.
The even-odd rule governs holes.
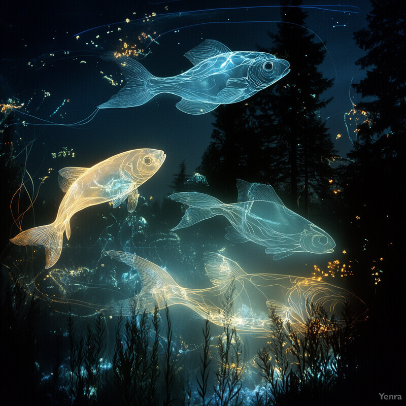
[[[198,192],[180,192],[171,194],[169,197],[172,200],[179,201],[184,205],[189,206],[180,223],[176,227],[172,228],[173,230],[188,227],[198,223],[199,221],[210,219],[211,217],[220,214],[214,213],[212,209],[221,206],[222,202],[213,196],[209,196],[208,194]]]

